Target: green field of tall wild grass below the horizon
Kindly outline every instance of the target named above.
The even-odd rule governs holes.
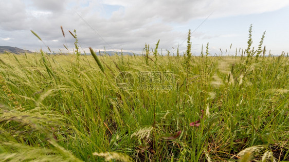
[[[1,54],[0,161],[289,160],[288,57],[155,56]]]

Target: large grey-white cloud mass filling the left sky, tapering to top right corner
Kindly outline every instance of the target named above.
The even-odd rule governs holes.
[[[103,7],[104,5],[107,5]],[[110,5],[120,6],[107,13]],[[68,33],[77,30],[83,48],[109,47],[86,25],[81,17],[115,49],[140,51],[145,43],[154,46],[160,39],[160,48],[171,49],[187,37],[187,27],[192,19],[228,17],[275,11],[289,5],[289,1],[276,0],[9,0],[0,1],[0,35],[17,37],[15,43],[31,50],[43,46],[30,30],[36,32],[50,48],[61,48],[65,43],[74,46],[74,38]],[[122,6],[122,7],[121,7]],[[188,27],[189,28],[189,27]],[[177,30],[176,30],[177,29]],[[227,34],[227,33],[226,33]],[[232,37],[234,34],[205,34],[196,31],[194,38]],[[4,40],[4,39],[3,39]],[[56,42],[55,40],[58,40]],[[1,43],[1,42],[0,42]],[[15,45],[13,45],[15,46]]]

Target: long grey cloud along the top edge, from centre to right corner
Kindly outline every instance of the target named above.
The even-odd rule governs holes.
[[[107,4],[122,5],[123,1],[105,1]],[[124,1],[127,9],[125,16],[137,18],[156,17],[167,22],[185,23],[194,18],[205,18],[214,11],[212,17],[245,15],[274,11],[289,5],[283,0],[147,0]]]

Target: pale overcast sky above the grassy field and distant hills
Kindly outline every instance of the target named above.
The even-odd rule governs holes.
[[[81,50],[86,52],[92,47],[141,53],[146,43],[154,47],[158,39],[163,53],[173,52],[177,45],[185,51],[188,30],[194,31],[200,24],[191,38],[195,55],[208,42],[211,55],[219,55],[220,48],[223,52],[228,49],[227,54],[246,48],[250,24],[255,48],[266,30],[263,45],[267,50],[276,55],[289,52],[287,0],[0,1],[0,46],[31,51],[48,50],[30,30],[52,51],[67,52],[63,44],[67,42],[73,49],[75,40],[68,30],[74,29]]]

